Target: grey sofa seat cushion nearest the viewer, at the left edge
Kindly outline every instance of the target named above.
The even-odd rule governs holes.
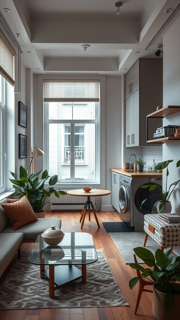
[[[14,252],[17,251],[23,241],[23,236],[23,233],[20,232],[0,234],[0,272],[14,255]]]

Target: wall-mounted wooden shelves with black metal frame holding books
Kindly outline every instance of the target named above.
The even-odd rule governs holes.
[[[147,116],[147,129],[149,127],[149,118],[164,118],[172,115],[173,113],[180,112],[180,106],[167,106],[158,111],[155,111]],[[153,119],[154,120],[154,119]],[[148,140],[148,132],[147,134],[147,143],[158,143],[158,142],[173,142],[180,140],[180,137],[165,137],[159,139]]]

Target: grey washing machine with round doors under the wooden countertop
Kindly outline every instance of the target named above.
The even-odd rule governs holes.
[[[135,232],[144,231],[144,214],[152,212],[152,206],[160,200],[159,191],[141,188],[146,184],[158,184],[162,187],[162,177],[135,177],[125,175],[119,177],[120,218]],[[149,198],[150,197],[150,198]],[[140,211],[143,200],[147,199]]]

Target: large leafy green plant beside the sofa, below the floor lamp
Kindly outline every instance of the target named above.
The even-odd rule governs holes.
[[[41,212],[46,203],[49,202],[49,197],[53,193],[56,197],[60,197],[60,195],[66,195],[66,192],[60,190],[59,188],[53,188],[57,181],[58,176],[53,175],[51,178],[45,170],[42,173],[41,179],[39,175],[42,170],[39,170],[36,173],[33,173],[28,178],[28,172],[25,168],[20,166],[20,175],[19,180],[16,180],[15,173],[11,172],[14,179],[9,179],[13,188],[18,192],[14,198],[21,198],[22,196],[27,196],[34,212]],[[49,179],[50,178],[50,179]],[[45,181],[48,180],[48,188],[45,188]]]

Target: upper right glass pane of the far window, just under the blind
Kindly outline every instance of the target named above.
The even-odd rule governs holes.
[[[74,120],[95,119],[95,102],[73,102],[73,119]]]

